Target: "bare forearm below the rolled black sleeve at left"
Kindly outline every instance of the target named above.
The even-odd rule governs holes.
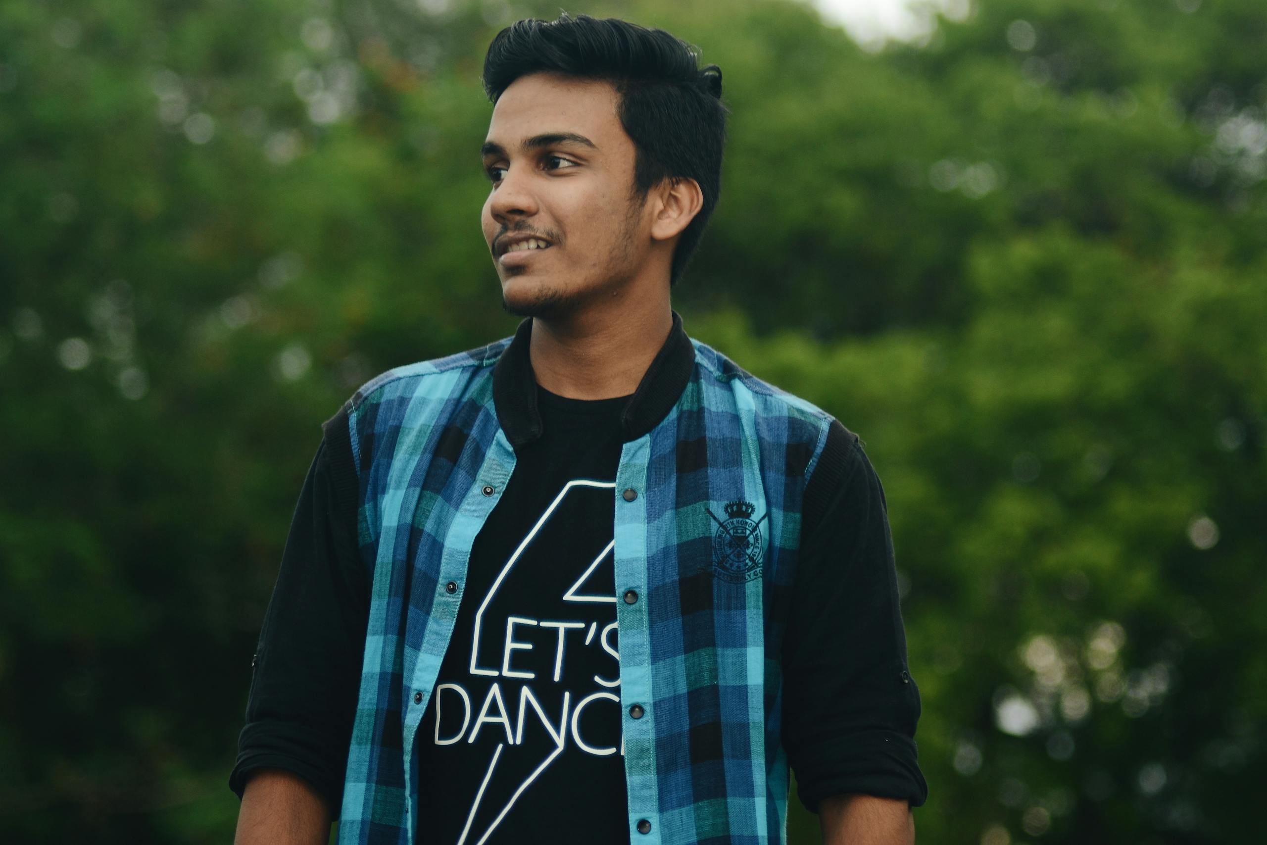
[[[233,845],[326,845],[329,808],[312,784],[285,769],[248,775]]]

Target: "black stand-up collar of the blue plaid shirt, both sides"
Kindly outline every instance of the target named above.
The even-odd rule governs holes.
[[[519,323],[502,357],[493,365],[493,405],[506,438],[514,448],[541,436],[537,379],[528,359],[531,337],[532,318],[527,317]],[[682,315],[673,312],[673,328],[669,329],[668,340],[656,352],[621,414],[626,442],[655,428],[673,409],[691,380],[694,362],[696,348],[682,331]]]

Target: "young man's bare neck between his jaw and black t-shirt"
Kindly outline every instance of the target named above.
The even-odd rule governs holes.
[[[617,303],[612,303],[617,305]],[[573,399],[626,397],[637,389],[673,328],[668,289],[646,304],[587,309],[532,321],[528,357],[537,384]]]

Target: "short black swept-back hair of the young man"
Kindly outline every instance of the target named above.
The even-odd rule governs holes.
[[[602,80],[616,89],[617,115],[637,151],[634,196],[664,179],[699,182],[703,205],[673,252],[674,285],[699,246],[721,195],[726,115],[721,68],[698,67],[699,49],[663,29],[616,18],[517,20],[497,33],[484,57],[484,91],[494,104],[511,84],[540,71]]]

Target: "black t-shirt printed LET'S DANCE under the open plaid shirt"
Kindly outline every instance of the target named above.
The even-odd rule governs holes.
[[[603,403],[618,408],[582,407]],[[556,436],[523,450],[476,537],[419,727],[419,842],[627,841],[612,530],[618,417],[585,414],[573,426],[542,404]],[[560,478],[568,469],[589,473]]]

